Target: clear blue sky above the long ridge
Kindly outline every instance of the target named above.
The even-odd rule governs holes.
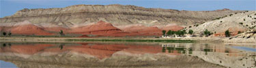
[[[188,11],[256,10],[256,0],[0,0],[0,18],[12,16],[24,8],[52,8],[70,5],[137,5],[147,8],[163,8]]]

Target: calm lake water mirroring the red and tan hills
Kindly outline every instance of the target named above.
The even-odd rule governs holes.
[[[1,68],[235,67],[256,65],[256,44],[1,42]]]

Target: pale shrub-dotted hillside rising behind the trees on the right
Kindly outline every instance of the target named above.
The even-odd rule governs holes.
[[[205,29],[215,33],[215,36],[225,36],[225,31],[229,30],[231,35],[237,35],[238,31],[244,32],[248,29],[256,29],[256,12],[242,12],[231,14],[225,18],[212,20],[200,24],[199,26],[186,27],[186,30],[192,29],[195,33],[201,34]]]

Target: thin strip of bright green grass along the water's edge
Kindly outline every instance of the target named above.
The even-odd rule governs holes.
[[[193,43],[193,40],[180,39],[66,39],[66,41],[126,41],[126,42],[169,42],[169,43]]]

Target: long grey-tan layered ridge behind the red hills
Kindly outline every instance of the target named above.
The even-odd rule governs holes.
[[[191,25],[236,12],[241,11],[178,11],[134,5],[72,5],[63,8],[20,10],[12,16],[0,18],[0,23],[29,20],[33,23],[58,23],[70,27],[103,20],[115,26],[127,24],[154,26],[171,23]]]

